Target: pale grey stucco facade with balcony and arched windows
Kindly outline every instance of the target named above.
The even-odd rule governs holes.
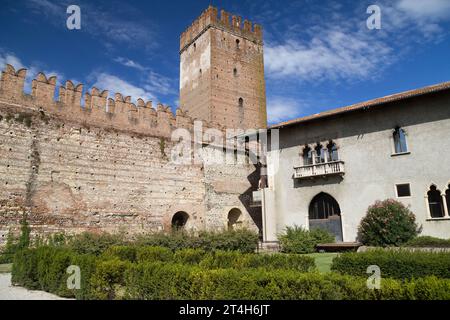
[[[367,208],[389,198],[411,209],[423,235],[450,238],[445,201],[450,188],[450,90],[306,120],[272,128],[279,129],[280,140],[279,148],[272,148],[267,160],[265,241],[276,241],[276,234],[286,226],[309,228],[310,204],[320,193],[337,201],[345,242],[357,240],[357,228]],[[407,152],[395,152],[395,128],[404,130]],[[317,174],[326,163],[305,169],[305,146],[314,149],[318,143],[326,146],[330,141],[337,146],[340,167],[326,175]],[[398,197],[398,184],[409,184],[411,195]],[[443,195],[445,215],[440,218],[431,218],[429,210],[427,192],[432,185]]]

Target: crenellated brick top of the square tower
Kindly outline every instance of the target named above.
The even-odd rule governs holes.
[[[220,18],[216,7],[209,6],[180,36],[180,53],[196,41],[210,28],[216,28],[255,43],[262,44],[262,27],[252,24],[248,20],[242,22],[240,16],[231,15],[225,10],[220,11]]]

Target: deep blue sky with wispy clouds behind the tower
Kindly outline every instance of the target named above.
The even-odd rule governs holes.
[[[28,92],[44,71],[175,108],[179,35],[211,2],[264,28],[271,123],[450,80],[450,0],[2,0],[0,67],[27,68]]]

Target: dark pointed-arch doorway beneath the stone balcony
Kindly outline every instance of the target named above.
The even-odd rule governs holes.
[[[309,205],[309,229],[324,229],[333,234],[336,242],[342,242],[341,208],[327,193],[316,195]]]

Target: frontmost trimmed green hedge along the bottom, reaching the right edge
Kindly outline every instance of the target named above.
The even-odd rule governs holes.
[[[366,278],[289,270],[202,270],[140,263],[127,270],[126,299],[138,300],[448,300],[450,279],[383,279],[370,290]]]

